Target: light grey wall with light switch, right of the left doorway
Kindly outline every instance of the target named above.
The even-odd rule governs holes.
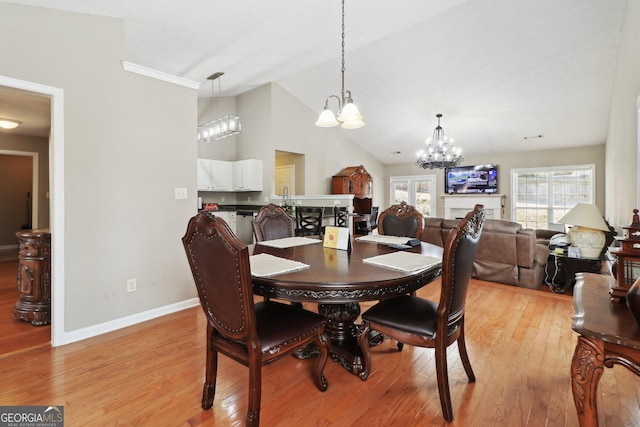
[[[64,233],[52,235],[64,242],[53,287],[65,290],[68,333],[196,297],[180,238],[196,207],[197,93],[124,71],[123,37],[117,19],[0,3],[11,40],[0,74],[64,92],[64,159],[53,164],[64,205],[52,213]]]

